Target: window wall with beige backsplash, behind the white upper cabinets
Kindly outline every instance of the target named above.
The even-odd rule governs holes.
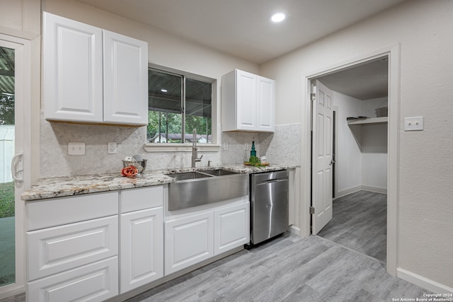
[[[149,44],[149,62],[166,68],[185,71],[205,76],[217,81],[214,98],[220,98],[220,83],[223,74],[239,68],[255,74],[259,72],[257,64],[232,57],[224,52],[197,45],[188,40],[169,35],[162,30],[113,15],[98,8],[93,8],[74,0],[45,0],[42,10],[55,13],[99,28],[129,35]],[[214,132],[220,129],[220,106],[213,124]],[[221,132],[217,143],[222,139]],[[203,153],[199,165],[207,165],[207,161],[219,165],[224,163],[240,163],[245,156],[244,142],[251,143],[256,134],[224,135],[222,141],[229,142],[228,151]],[[178,153],[147,153],[143,146],[146,138],[146,127],[97,126],[88,124],[66,124],[47,122],[40,119],[40,176],[64,176],[94,173],[114,173],[122,168],[121,159],[127,155],[141,154],[148,159],[147,169],[190,167],[190,152]],[[84,141],[86,156],[68,156],[68,141]],[[107,153],[108,141],[117,142],[117,154]],[[256,140],[257,149],[260,141]],[[259,149],[258,149],[259,150]],[[223,153],[223,156],[222,156]],[[103,161],[99,161],[103,158]],[[224,162],[224,158],[226,162]]]

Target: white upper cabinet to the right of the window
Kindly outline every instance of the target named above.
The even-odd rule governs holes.
[[[275,81],[235,69],[222,77],[222,130],[274,132]]]

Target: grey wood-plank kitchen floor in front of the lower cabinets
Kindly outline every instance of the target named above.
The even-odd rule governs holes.
[[[319,236],[290,235],[243,250],[127,302],[392,301],[423,298],[372,257]]]

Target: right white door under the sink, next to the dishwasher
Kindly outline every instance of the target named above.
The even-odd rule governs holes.
[[[249,203],[214,210],[214,255],[250,241]]]

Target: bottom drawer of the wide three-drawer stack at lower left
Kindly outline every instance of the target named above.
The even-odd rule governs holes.
[[[28,282],[28,302],[104,301],[118,294],[118,257]]]

